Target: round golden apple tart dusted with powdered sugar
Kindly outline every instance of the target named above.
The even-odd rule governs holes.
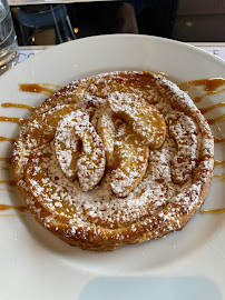
[[[187,93],[150,72],[76,80],[26,121],[17,186],[36,220],[95,251],[180,230],[203,204],[211,129]]]

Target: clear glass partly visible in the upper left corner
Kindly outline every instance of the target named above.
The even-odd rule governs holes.
[[[18,62],[18,43],[7,0],[0,0],[0,74]]]

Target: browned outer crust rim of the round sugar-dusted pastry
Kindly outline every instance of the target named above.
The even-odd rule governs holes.
[[[123,72],[118,72],[117,74],[123,74]],[[134,78],[147,78],[151,82],[151,84],[155,84],[162,97],[164,97],[166,101],[170,102],[169,97],[175,92],[175,90],[174,86],[166,79],[157,77],[154,73],[149,72],[127,72],[126,74],[127,77],[131,76]],[[108,74],[106,77],[108,77]],[[89,81],[85,81],[85,84],[87,84],[88,82]],[[58,106],[59,103],[71,103],[71,101],[76,102],[79,97],[71,98],[71,92],[75,93],[76,90],[79,89],[80,84],[82,86],[84,81],[72,82],[71,84],[65,87],[59,92],[47,99],[23,124],[13,147],[12,162],[17,183],[19,183],[19,181],[23,179],[23,168],[26,168],[26,166],[20,166],[20,159],[22,156],[21,142],[26,139],[27,126],[38,114],[43,113],[45,111],[49,110],[49,108]],[[70,97],[68,97],[68,93],[70,94]],[[185,99],[185,97],[188,96],[184,93],[183,98]],[[177,101],[173,103],[170,102],[170,104],[175,106],[177,110],[180,110],[187,116],[192,117],[195,123],[198,124],[199,131],[204,137],[204,141],[206,143],[211,142],[211,144],[213,144],[213,136],[204,117],[200,114],[196,107],[183,106],[183,103],[185,103],[185,100],[180,101],[179,97],[177,97]],[[204,169],[203,172],[203,168],[199,168],[199,166],[204,161],[207,161],[208,166]],[[167,207],[165,207],[164,213],[170,213],[170,216],[174,216],[175,219],[172,218],[170,220],[165,221],[163,218],[160,218],[160,216],[155,214],[151,217],[147,217],[131,226],[118,229],[100,228],[96,227],[95,224],[89,227],[81,227],[79,224],[76,224],[77,229],[74,230],[72,226],[75,224],[69,224],[69,222],[67,222],[63,218],[59,218],[59,216],[57,214],[50,216],[48,211],[43,210],[41,204],[38,202],[38,199],[33,198],[28,191],[26,191],[25,188],[19,186],[19,190],[25,200],[27,201],[27,204],[36,220],[61,240],[81,249],[95,251],[111,251],[123,244],[136,244],[146,240],[160,238],[176,230],[182,230],[185,224],[192,219],[195,212],[200,208],[205,200],[213,174],[213,147],[207,152],[205,151],[203,144],[198,167],[195,169],[195,177],[193,181],[193,183],[200,182],[202,189],[195,206],[193,206],[192,210],[188,211],[188,213],[184,212],[182,207],[176,207],[176,212],[174,212],[174,207],[172,204],[168,204]],[[189,194],[189,197],[192,197],[192,194]],[[40,210],[39,213],[37,213],[37,209]],[[49,216],[52,217],[52,221],[46,222],[46,219]]]

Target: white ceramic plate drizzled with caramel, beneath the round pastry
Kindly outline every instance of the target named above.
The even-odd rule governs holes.
[[[0,101],[39,106],[46,97],[19,91],[19,83],[65,86],[74,79],[116,70],[165,72],[176,83],[225,78],[225,62],[194,47],[154,37],[101,36],[50,48],[18,64],[0,78]],[[225,93],[219,93],[199,106],[223,99]],[[222,113],[218,108],[206,117]],[[29,111],[0,107],[0,116],[27,118]],[[223,122],[213,131],[225,134]],[[18,124],[0,123],[0,136],[14,138],[18,132]],[[11,146],[4,141],[0,157],[7,156],[11,156]],[[215,146],[215,158],[224,160],[223,143]],[[223,167],[215,172],[223,173]],[[6,178],[9,173],[0,170],[0,180]],[[4,184],[1,188],[6,189],[0,190],[1,203],[23,203],[19,193],[9,192]],[[204,209],[225,207],[224,192],[224,181],[213,179]],[[223,213],[196,213],[180,232],[108,253],[66,244],[40,227],[29,212],[0,212],[9,213],[17,217],[0,218],[0,299],[137,299],[137,294],[138,299],[148,299],[149,294],[174,300],[225,298]]]

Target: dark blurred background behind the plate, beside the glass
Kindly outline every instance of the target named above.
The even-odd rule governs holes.
[[[225,0],[30,1],[22,6],[11,1],[19,46],[120,32],[185,42],[225,41]]]

